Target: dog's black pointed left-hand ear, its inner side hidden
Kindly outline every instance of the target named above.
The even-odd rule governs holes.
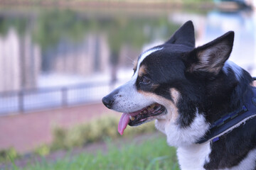
[[[186,23],[178,28],[174,35],[171,36],[170,40],[165,42],[166,44],[181,44],[189,47],[195,47],[195,33],[192,21]]]

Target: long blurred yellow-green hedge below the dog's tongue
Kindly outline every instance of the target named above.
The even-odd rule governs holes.
[[[56,127],[53,129],[53,143],[50,149],[82,147],[90,142],[102,141],[106,137],[116,139],[121,136],[117,132],[118,121],[118,118],[107,116],[92,120],[90,123],[76,125],[70,129]],[[146,123],[137,128],[127,127],[124,137],[154,131],[154,123]]]

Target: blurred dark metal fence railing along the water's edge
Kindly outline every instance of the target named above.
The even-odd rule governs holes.
[[[100,101],[103,96],[123,82],[124,80],[113,84],[110,81],[103,81],[75,86],[0,92],[0,115]]]

